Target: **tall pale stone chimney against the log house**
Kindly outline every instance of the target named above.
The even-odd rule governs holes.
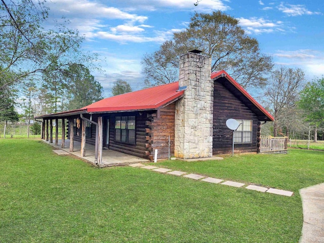
[[[175,156],[213,156],[213,92],[211,61],[194,50],[180,57],[179,88],[187,86],[176,102]]]

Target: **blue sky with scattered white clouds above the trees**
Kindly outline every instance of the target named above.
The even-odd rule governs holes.
[[[62,16],[84,34],[83,48],[100,54],[104,74],[94,73],[111,95],[121,78],[142,88],[141,58],[188,25],[196,12],[221,10],[255,37],[278,65],[299,67],[307,79],[324,74],[324,2],[276,0],[52,0],[50,19]]]

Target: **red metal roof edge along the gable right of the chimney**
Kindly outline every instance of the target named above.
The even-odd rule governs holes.
[[[211,79],[215,80],[219,77],[226,77],[226,79],[238,90],[240,91],[245,97],[247,97],[263,114],[265,114],[270,120],[274,120],[273,116],[264,109],[253,97],[243,89],[227,72],[224,70],[212,72]]]

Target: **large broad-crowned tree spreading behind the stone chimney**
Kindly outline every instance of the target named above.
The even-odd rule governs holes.
[[[272,69],[270,56],[260,52],[259,43],[248,36],[238,20],[220,11],[195,13],[183,31],[142,59],[146,86],[176,81],[179,56],[198,49],[212,57],[212,72],[225,69],[242,87],[264,87]]]

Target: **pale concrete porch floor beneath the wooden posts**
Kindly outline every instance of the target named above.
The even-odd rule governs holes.
[[[73,152],[69,152],[70,150],[70,140],[65,139],[65,148],[61,148],[61,139],[58,140],[58,145],[55,145],[54,143],[47,142],[43,140],[44,142],[52,145],[53,147],[62,149],[70,154],[73,154],[79,158],[85,159],[92,163],[93,165],[96,165],[95,163],[95,146],[91,144],[86,143],[86,156],[81,156],[81,143],[78,141],[74,141],[73,143]],[[117,152],[114,150],[102,149],[102,164],[98,165],[99,167],[107,167],[107,166],[117,166],[117,165],[129,165],[134,163],[143,163],[143,162],[149,162],[148,159],[136,157],[134,155],[126,154]]]

